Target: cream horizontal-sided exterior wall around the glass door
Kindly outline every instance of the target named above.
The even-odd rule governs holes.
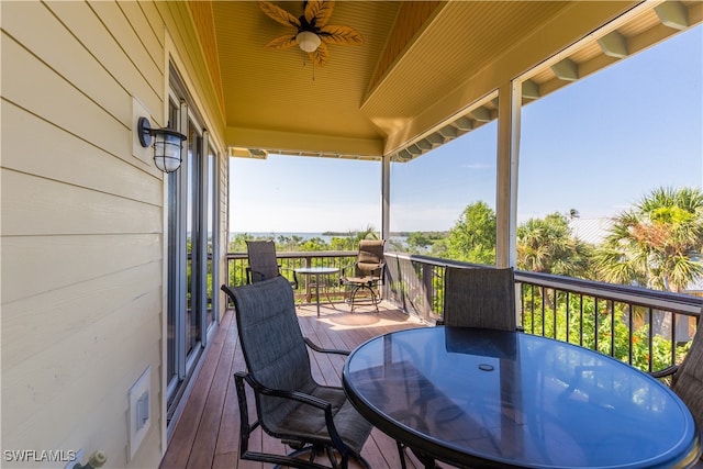
[[[81,462],[104,450],[105,467],[157,467],[165,188],[148,152],[134,149],[133,103],[166,125],[169,59],[205,115],[226,185],[222,118],[187,3],[0,5],[0,466],[63,468],[68,453],[31,459],[82,448]],[[150,428],[131,458],[127,392],[148,366]],[[7,450],[37,453],[16,462]]]

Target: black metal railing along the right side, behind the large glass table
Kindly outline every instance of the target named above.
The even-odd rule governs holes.
[[[384,298],[428,323],[442,317],[444,269],[470,264],[387,253]],[[546,273],[515,271],[518,324],[529,334],[570,342],[645,371],[681,361],[703,299]]]

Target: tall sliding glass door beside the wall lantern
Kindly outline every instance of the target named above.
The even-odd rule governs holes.
[[[186,100],[172,93],[171,126],[187,135],[182,164],[167,176],[168,418],[197,368],[216,323],[217,155]],[[177,101],[178,99],[178,101]],[[177,123],[176,125],[174,123]]]

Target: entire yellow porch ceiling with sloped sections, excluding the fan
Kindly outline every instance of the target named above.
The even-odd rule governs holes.
[[[302,2],[275,3],[295,16],[302,13]],[[402,154],[453,120],[464,119],[466,124],[464,129],[451,124],[458,132],[450,134],[456,136],[484,122],[487,115],[494,119],[494,103],[488,103],[478,120],[467,113],[482,92],[486,96],[482,90],[494,90],[514,78],[513,69],[526,71],[515,64],[518,44],[529,40],[536,45],[531,48],[534,57],[521,58],[532,67],[549,58],[545,52],[563,51],[588,36],[592,25],[605,24],[637,3],[338,1],[330,23],[356,29],[364,44],[330,45],[330,60],[322,68],[313,68],[297,47],[264,48],[293,30],[264,14],[258,2],[192,1],[190,9],[226,123],[231,155],[257,157],[269,152],[361,159],[393,155],[399,160],[436,146],[439,139],[421,152]],[[692,16],[689,22],[700,16],[698,3],[680,2],[685,15]],[[628,21],[623,29],[626,42],[647,32],[651,35],[652,27],[666,27],[667,34],[677,31],[660,24],[651,10],[656,4],[647,8],[649,20],[638,14],[637,21]],[[585,16],[583,32],[569,24],[576,9]],[[595,41],[591,37],[590,51],[572,52],[577,74],[579,67],[583,74],[591,72],[588,67],[598,68],[593,66],[599,64],[596,58],[605,56],[602,47],[593,46]],[[649,43],[655,41],[660,38]],[[600,67],[607,63],[600,58]],[[568,67],[558,71],[568,74]],[[513,75],[506,78],[505,72]],[[480,87],[471,81],[477,77]],[[540,87],[549,92],[571,78],[559,78],[546,68],[533,80],[532,91],[539,96]],[[457,98],[447,99],[451,94]]]

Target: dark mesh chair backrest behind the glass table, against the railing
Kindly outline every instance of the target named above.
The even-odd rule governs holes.
[[[513,269],[448,266],[444,275],[444,324],[515,331]]]

